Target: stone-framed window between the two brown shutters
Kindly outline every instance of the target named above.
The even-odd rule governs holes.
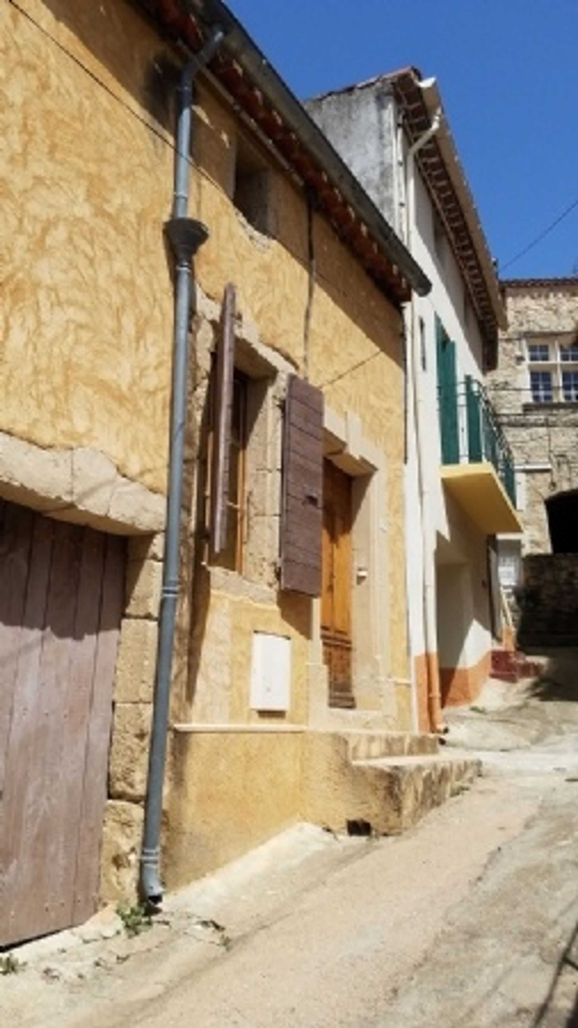
[[[264,343],[248,339],[242,327],[229,283],[214,325],[208,383],[203,561],[220,588],[234,575],[247,588],[277,589],[283,424],[279,411],[288,366]]]

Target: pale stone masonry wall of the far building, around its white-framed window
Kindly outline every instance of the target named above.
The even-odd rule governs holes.
[[[513,452],[523,551],[548,553],[545,501],[578,487],[578,404],[535,404],[526,342],[569,340],[578,329],[578,280],[504,285],[508,330],[500,336],[498,369],[486,384]]]

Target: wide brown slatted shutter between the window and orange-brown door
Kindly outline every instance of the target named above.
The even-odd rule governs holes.
[[[283,589],[321,594],[322,512],[323,394],[291,375],[283,440]]]

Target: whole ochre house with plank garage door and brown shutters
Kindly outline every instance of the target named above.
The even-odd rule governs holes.
[[[155,827],[168,887],[297,818],[399,831],[362,759],[435,740],[404,559],[428,278],[224,4],[0,19],[8,945],[131,894],[141,848],[157,898]]]

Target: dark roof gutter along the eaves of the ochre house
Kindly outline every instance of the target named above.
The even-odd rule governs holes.
[[[380,213],[337,151],[331,146],[302,104],[278,75],[243,26],[221,0],[185,0],[186,9],[205,25],[221,25],[225,32],[223,50],[251,78],[263,97],[295,134],[311,157],[327,173],[347,204],[358,214],[371,236],[395,264],[411,288],[426,296],[431,283],[394,229]]]

